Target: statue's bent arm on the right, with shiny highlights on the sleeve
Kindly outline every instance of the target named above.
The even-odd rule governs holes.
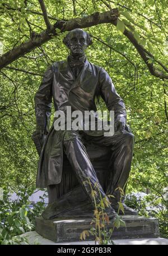
[[[115,130],[125,129],[127,112],[123,99],[116,93],[115,86],[108,72],[100,70],[100,95],[105,101],[107,108],[114,111]]]

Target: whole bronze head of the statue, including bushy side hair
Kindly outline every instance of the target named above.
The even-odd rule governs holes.
[[[82,29],[73,29],[64,37],[63,43],[73,55],[83,55],[88,45],[92,44],[91,36]]]

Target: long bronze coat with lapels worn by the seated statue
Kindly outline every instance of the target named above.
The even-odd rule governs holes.
[[[124,102],[116,93],[114,84],[104,68],[86,60],[85,66],[75,78],[66,60],[54,62],[45,71],[40,88],[35,94],[37,129],[48,131],[39,159],[37,188],[59,184],[62,179],[65,131],[56,131],[53,125],[49,129],[52,98],[55,111],[65,111],[67,106],[71,106],[73,110],[96,111],[96,99],[100,96],[108,109],[115,111],[115,120],[126,121]],[[100,135],[95,131],[87,133],[92,136]]]

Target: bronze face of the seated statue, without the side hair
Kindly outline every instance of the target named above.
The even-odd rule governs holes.
[[[87,48],[87,34],[83,30],[74,30],[69,34],[69,49],[73,55],[82,55]]]

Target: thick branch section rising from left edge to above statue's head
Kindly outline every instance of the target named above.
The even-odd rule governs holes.
[[[61,32],[71,31],[72,29],[76,28],[88,28],[97,24],[110,23],[111,21],[116,20],[118,15],[118,9],[113,9],[112,11],[108,12],[96,12],[83,18],[76,18],[68,21],[58,21],[52,28],[52,31],[50,31],[50,34],[48,34],[46,30],[39,34],[33,33],[30,40],[27,40],[18,47],[4,53],[0,57],[0,68],[6,67],[8,64],[16,61],[26,53],[29,53],[33,49],[48,42],[53,38],[52,35],[58,36],[59,34],[55,32],[55,29],[57,28],[59,28]]]

